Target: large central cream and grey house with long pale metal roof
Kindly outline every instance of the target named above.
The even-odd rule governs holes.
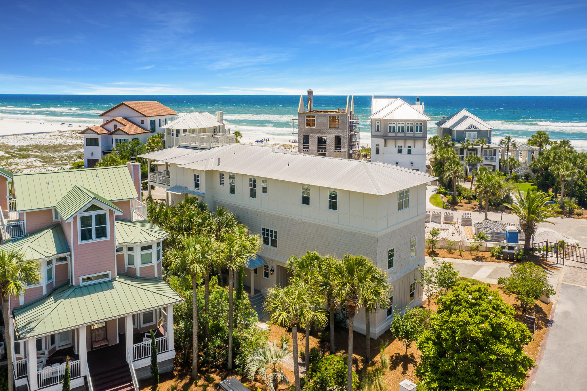
[[[371,315],[377,336],[389,326],[392,304],[421,302],[415,281],[424,264],[428,174],[250,144],[174,147],[141,157],[166,165],[164,180],[149,175],[149,182],[163,188],[170,203],[191,195],[210,208],[222,205],[259,234],[262,249],[244,277],[257,309],[270,286],[288,284],[287,259],[307,250],[365,255],[387,271],[393,296],[389,309]],[[365,312],[355,329],[365,332]]]

